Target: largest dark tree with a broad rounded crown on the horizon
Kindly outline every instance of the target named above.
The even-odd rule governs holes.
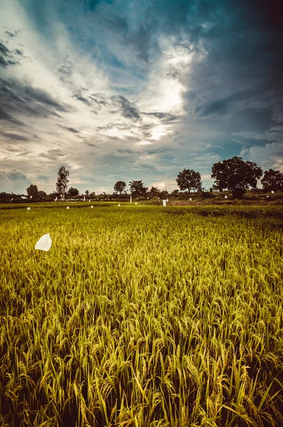
[[[249,187],[255,189],[261,176],[262,168],[254,162],[245,162],[242,157],[232,157],[212,166],[215,188],[220,191],[228,189],[236,198],[242,198]]]

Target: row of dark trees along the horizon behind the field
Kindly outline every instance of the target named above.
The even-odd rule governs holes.
[[[85,194],[79,194],[78,189],[74,187],[68,188],[68,176],[69,171],[66,167],[61,167],[58,170],[58,176],[56,181],[56,191],[47,194],[44,191],[38,190],[38,187],[31,184],[27,189],[27,196],[20,196],[21,198],[29,198],[34,200],[42,199],[61,199],[65,200],[75,198],[78,199],[95,199],[96,193],[86,190]],[[232,157],[231,159],[217,162],[212,166],[212,179],[215,183],[210,188],[210,191],[224,191],[228,190],[232,192],[232,196],[235,198],[242,198],[245,192],[249,189],[257,188],[257,181],[259,179],[262,184],[264,191],[283,191],[283,174],[282,172],[274,169],[269,169],[263,173],[262,168],[258,167],[254,162],[244,161],[242,157]],[[200,172],[196,172],[193,169],[183,169],[176,178],[177,186],[180,191],[187,191],[189,194],[191,191],[205,191],[202,187],[202,181]],[[114,185],[114,193],[112,196],[126,195],[127,184],[125,181],[117,181]],[[136,197],[167,197],[168,191],[160,190],[157,187],[152,186],[150,189],[143,184],[143,181],[130,181],[129,182],[130,195],[133,198]],[[171,194],[175,195],[178,190],[174,190]],[[0,199],[4,199],[8,194],[0,193]],[[9,194],[11,196],[13,194]],[[109,196],[103,193],[103,198]],[[12,198],[13,199],[13,198]]]

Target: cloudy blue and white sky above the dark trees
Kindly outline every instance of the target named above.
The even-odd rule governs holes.
[[[0,191],[50,193],[61,166],[96,194],[184,168],[209,189],[234,156],[283,172],[279,5],[0,0]]]

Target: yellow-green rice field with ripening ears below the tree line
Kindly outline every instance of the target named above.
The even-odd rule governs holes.
[[[1,426],[283,426],[280,208],[27,206],[0,210]]]

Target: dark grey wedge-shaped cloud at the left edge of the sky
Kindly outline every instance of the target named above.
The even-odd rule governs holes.
[[[44,90],[23,85],[18,80],[0,78],[0,120],[23,125],[17,117],[48,117],[57,114],[54,110],[67,111]]]

